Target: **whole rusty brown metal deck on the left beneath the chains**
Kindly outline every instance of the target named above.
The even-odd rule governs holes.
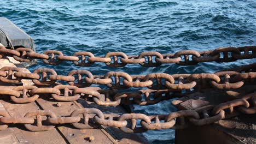
[[[21,66],[19,62],[16,62],[14,59],[11,61],[15,64],[8,59],[0,58],[0,61],[1,66]],[[30,73],[30,71],[27,71],[27,73]],[[22,80],[21,82],[21,85],[33,84],[31,80]],[[3,85],[5,85],[5,83]],[[13,89],[15,87],[16,86],[10,86],[8,88]],[[6,88],[6,86],[0,87],[1,90]],[[94,90],[97,90],[97,88]],[[7,109],[4,109],[2,104],[4,104],[4,107]],[[43,107],[45,110],[53,110],[57,114],[62,112],[62,115],[68,115],[72,110],[82,108],[82,105],[72,101],[57,103],[53,100],[44,100],[41,98],[37,99],[36,102],[25,104],[15,104],[13,101],[5,98],[0,100],[0,110],[8,111],[10,117],[24,117],[28,111],[43,109]],[[62,110],[60,111],[60,109]],[[123,112],[125,111],[123,110]],[[49,131],[27,131],[22,124],[9,124],[8,129],[0,131],[0,143],[147,143],[142,135],[126,134],[127,136],[123,135],[123,137],[120,137],[119,133],[120,131],[106,131],[104,128],[79,130],[74,129],[69,124],[64,124],[64,126],[59,125],[59,127]],[[119,139],[115,136],[116,134],[117,137],[119,136]]]

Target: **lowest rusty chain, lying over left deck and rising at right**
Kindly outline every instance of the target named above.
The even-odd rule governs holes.
[[[235,110],[246,114],[256,113],[256,93],[244,95],[235,100],[219,105],[208,105],[196,110],[183,110],[169,113],[168,115],[147,116],[142,113],[103,113],[95,108],[84,108],[74,110],[70,116],[57,116],[54,112],[37,110],[29,111],[24,117],[9,117],[7,111],[0,111],[0,130],[6,129],[9,123],[25,124],[31,131],[44,131],[54,129],[56,124],[72,124],[78,129],[93,129],[99,125],[116,127],[126,133],[142,133],[154,129],[183,129],[189,123],[194,125],[206,125],[224,119],[226,115]],[[44,117],[46,116],[46,117]],[[80,117],[82,116],[82,117]],[[36,118],[36,121],[35,119]],[[183,119],[182,123],[177,123],[174,119]],[[140,121],[141,127],[136,124]],[[188,121],[185,121],[188,120]],[[47,123],[42,123],[44,121]]]

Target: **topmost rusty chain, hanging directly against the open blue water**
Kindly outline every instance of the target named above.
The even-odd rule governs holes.
[[[29,48],[9,50],[0,47],[0,55],[13,56],[16,61],[30,62],[32,59],[43,59],[46,64],[60,64],[71,61],[80,67],[89,67],[95,62],[105,63],[108,67],[124,67],[126,64],[138,63],[143,67],[158,67],[163,63],[178,65],[195,65],[201,62],[233,62],[237,59],[256,58],[256,46],[220,47],[212,51],[184,50],[174,54],[159,52],[142,52],[139,56],[127,56],[123,52],[108,52],[104,57],[95,57],[91,52],[75,52],[73,56],[64,56],[61,51],[48,50],[36,53]],[[183,60],[184,59],[184,60]]]

